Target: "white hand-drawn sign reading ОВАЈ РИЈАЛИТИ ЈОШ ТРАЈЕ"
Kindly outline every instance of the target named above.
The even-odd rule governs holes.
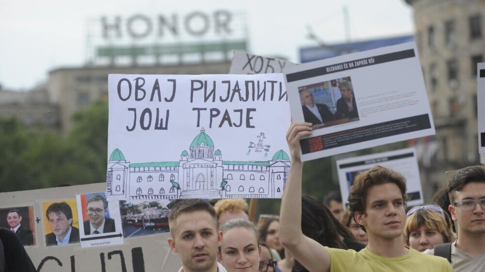
[[[283,195],[291,118],[282,74],[108,81],[108,199]]]

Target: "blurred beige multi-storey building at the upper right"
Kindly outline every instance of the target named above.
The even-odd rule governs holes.
[[[479,163],[477,63],[484,61],[482,0],[406,0],[436,128],[432,163],[421,169],[434,189],[444,171]]]

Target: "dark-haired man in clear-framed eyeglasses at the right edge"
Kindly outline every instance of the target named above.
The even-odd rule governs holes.
[[[458,237],[447,249],[453,269],[485,271],[485,166],[468,166],[456,172],[448,182],[448,194]],[[424,253],[437,255],[436,247]]]

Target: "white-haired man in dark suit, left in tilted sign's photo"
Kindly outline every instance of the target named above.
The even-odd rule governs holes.
[[[325,104],[315,104],[313,93],[309,90],[300,91],[300,100],[303,103],[303,118],[313,125],[334,121],[335,116]]]

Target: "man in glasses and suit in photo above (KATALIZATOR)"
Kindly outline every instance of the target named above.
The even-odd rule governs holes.
[[[108,218],[108,201],[104,196],[94,195],[88,199],[86,213],[89,220],[83,222],[84,235],[115,232],[114,219]]]

